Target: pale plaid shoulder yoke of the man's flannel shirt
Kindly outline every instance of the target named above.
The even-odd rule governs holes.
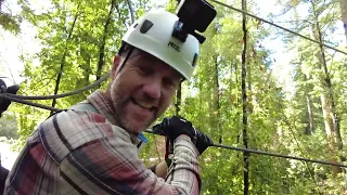
[[[65,110],[38,127],[38,135],[46,151],[56,162],[72,151],[99,139],[114,136],[114,127],[98,113]]]

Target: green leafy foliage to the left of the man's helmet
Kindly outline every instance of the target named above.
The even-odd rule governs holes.
[[[138,9],[146,1],[133,4]],[[115,9],[116,8],[116,9]],[[21,94],[48,95],[79,89],[95,81],[111,68],[113,56],[120,46],[121,35],[131,23],[126,2],[118,1],[52,1],[50,8],[31,15],[30,21],[38,28],[38,40],[42,50],[34,56],[25,56]],[[39,64],[34,64],[38,60]],[[100,75],[101,74],[101,75]],[[60,80],[59,80],[60,79]],[[57,86],[59,83],[59,86]],[[102,88],[105,88],[104,83]],[[94,90],[94,89],[93,89]],[[56,101],[56,107],[67,108],[82,101],[93,90]],[[52,101],[40,101],[51,105]],[[20,134],[26,138],[38,121],[49,117],[42,110],[29,110],[17,106],[16,112],[34,115],[21,117]]]

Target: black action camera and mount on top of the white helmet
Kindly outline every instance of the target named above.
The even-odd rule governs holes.
[[[202,44],[205,37],[197,34],[204,32],[213,22],[217,12],[215,8],[205,0],[182,0],[178,1],[177,15],[179,21],[175,23],[172,36],[185,42],[188,35],[194,36]]]

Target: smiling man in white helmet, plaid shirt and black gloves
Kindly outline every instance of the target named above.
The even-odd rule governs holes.
[[[129,28],[107,90],[38,127],[11,170],[4,194],[200,193],[197,158],[210,140],[191,122],[171,117],[156,126],[174,144],[168,172],[165,162],[150,170],[138,157],[142,131],[194,70],[198,42],[190,35],[185,42],[175,39],[176,21],[171,13],[153,11]]]

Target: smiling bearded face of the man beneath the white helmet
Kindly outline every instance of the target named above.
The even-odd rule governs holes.
[[[124,57],[115,57],[108,92],[117,125],[139,133],[168,108],[182,77],[169,65],[138,50],[119,70],[123,61]]]

